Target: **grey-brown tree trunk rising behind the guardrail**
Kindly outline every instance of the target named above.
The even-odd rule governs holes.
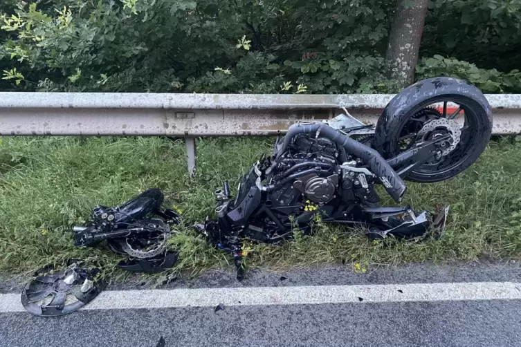
[[[397,0],[385,55],[387,76],[401,86],[414,83],[414,69],[429,0]]]

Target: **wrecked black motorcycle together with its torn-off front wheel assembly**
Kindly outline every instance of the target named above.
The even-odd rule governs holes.
[[[376,126],[344,110],[331,120],[290,126],[273,153],[250,167],[235,197],[228,182],[215,191],[217,218],[194,227],[232,254],[237,279],[244,277],[246,239],[284,241],[295,227],[309,232],[318,216],[322,223],[363,227],[370,238],[415,238],[430,229],[441,234],[448,206],[432,214],[382,207],[375,186],[399,203],[405,180],[439,182],[472,165],[492,131],[491,106],[481,91],[448,77],[405,88]],[[179,223],[179,215],[161,212],[162,201],[161,191],[152,189],[120,207],[97,207],[89,227],[75,227],[75,243],[107,240],[112,250],[130,256],[130,270],[167,268],[175,261],[175,254],[167,259],[168,224]]]

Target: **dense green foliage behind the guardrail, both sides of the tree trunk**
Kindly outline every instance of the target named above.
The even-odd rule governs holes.
[[[1,1],[0,90],[392,93],[383,57],[394,5]],[[521,61],[520,1],[432,1],[423,37],[424,57],[463,61],[422,59],[418,78],[455,75],[490,93],[518,91],[518,73],[505,72]]]

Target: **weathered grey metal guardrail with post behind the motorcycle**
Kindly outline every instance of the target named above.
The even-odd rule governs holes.
[[[275,135],[298,120],[342,113],[375,123],[394,95],[0,93],[0,135],[184,137],[195,169],[195,137]],[[494,134],[521,133],[521,95],[486,95]]]

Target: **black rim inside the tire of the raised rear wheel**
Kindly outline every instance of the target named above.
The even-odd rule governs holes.
[[[443,106],[440,105],[441,107],[439,108],[433,108],[432,105],[434,104]],[[428,111],[425,111],[426,109]],[[401,126],[399,138],[396,139],[394,144],[394,155],[409,149],[417,143],[416,135],[428,121],[439,118],[455,120],[461,114],[464,117],[463,126],[458,124],[461,135],[455,149],[448,155],[442,156],[439,160],[433,160],[412,170],[412,174],[415,176],[442,175],[455,169],[470,156],[470,150],[475,147],[479,140],[477,135],[480,131],[479,117],[475,111],[475,106],[468,100],[462,100],[457,97],[438,97],[419,104],[410,114],[410,118],[407,118]],[[419,117],[417,117],[418,115]]]

